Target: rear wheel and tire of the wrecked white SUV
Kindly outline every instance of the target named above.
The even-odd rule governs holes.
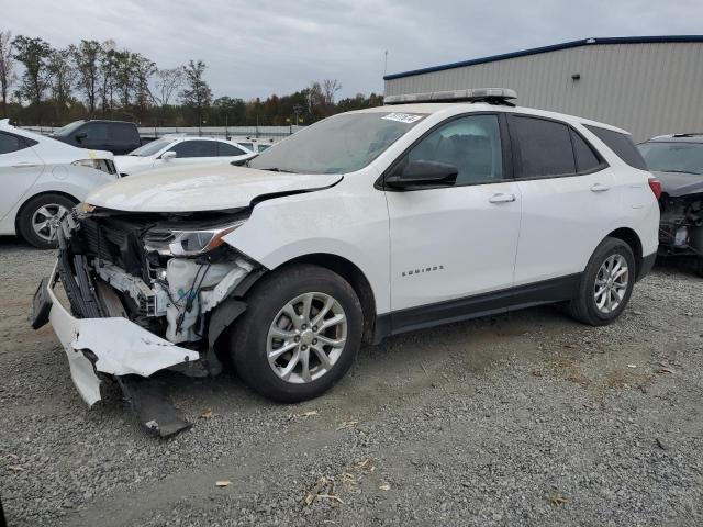
[[[610,262],[610,270],[607,262]],[[620,268],[616,267],[617,262],[621,264]],[[616,276],[622,271],[623,262],[627,266],[624,273],[626,283],[623,283],[623,274],[609,281],[611,270]],[[595,248],[588,266],[585,266],[579,284],[579,294],[569,302],[569,314],[577,321],[591,326],[611,324],[627,305],[635,284],[635,256],[629,246],[622,239],[605,238]],[[596,279],[599,280],[598,284]],[[620,296],[621,294],[622,296]],[[599,302],[596,302],[596,298]]]

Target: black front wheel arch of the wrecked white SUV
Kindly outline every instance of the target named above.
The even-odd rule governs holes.
[[[361,303],[361,311],[364,314],[364,335],[362,341],[368,344],[373,339],[373,330],[376,326],[376,296],[373,289],[368,278],[359,267],[353,261],[338,255],[328,253],[313,253],[310,255],[303,255],[288,260],[280,266],[271,270],[271,272],[278,272],[288,266],[295,264],[310,264],[314,266],[324,267],[344,278]]]

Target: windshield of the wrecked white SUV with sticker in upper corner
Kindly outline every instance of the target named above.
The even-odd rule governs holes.
[[[284,172],[353,172],[376,159],[424,116],[394,112],[334,115],[271,146],[249,166]]]

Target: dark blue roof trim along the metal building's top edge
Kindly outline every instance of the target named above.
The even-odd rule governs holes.
[[[403,77],[412,77],[413,75],[432,74],[445,69],[461,68],[464,66],[475,66],[477,64],[495,63],[507,58],[526,57],[528,55],[537,55],[539,53],[557,52],[559,49],[570,49],[572,47],[592,46],[598,44],[659,44],[676,42],[703,42],[703,35],[668,35],[668,36],[607,36],[602,38],[581,38],[580,41],[563,42],[561,44],[553,44],[550,46],[533,47],[521,52],[504,53],[502,55],[491,55],[490,57],[475,58],[471,60],[461,60],[459,63],[443,64],[440,66],[432,66],[428,68],[413,69],[402,71],[400,74],[386,75],[383,80],[401,79]]]

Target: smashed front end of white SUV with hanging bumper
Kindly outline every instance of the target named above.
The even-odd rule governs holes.
[[[114,378],[141,423],[161,436],[187,426],[149,383],[170,369],[217,374],[214,345],[246,309],[265,271],[222,238],[248,210],[217,213],[74,211],[58,226],[58,258],[37,290],[32,325],[52,323],[83,400]]]

